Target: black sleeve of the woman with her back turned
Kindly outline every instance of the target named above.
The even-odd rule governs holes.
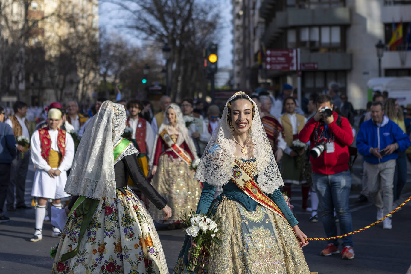
[[[167,205],[167,201],[155,190],[150,182],[148,182],[143,171],[141,171],[136,155],[125,156],[123,160],[133,180],[134,186],[147,196],[159,210],[163,209]]]

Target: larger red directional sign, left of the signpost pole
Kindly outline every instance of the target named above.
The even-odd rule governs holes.
[[[295,49],[268,49],[266,51],[266,69],[268,70],[296,70]]]

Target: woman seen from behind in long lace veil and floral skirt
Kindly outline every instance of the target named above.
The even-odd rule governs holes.
[[[104,101],[85,127],[65,192],[74,198],[55,256],[53,274],[169,273],[150,214],[127,188],[127,180],[148,197],[164,219],[166,200],[145,178],[138,151],[122,138],[124,106]]]

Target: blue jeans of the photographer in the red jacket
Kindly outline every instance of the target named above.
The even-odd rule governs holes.
[[[333,175],[312,173],[312,182],[316,189],[321,220],[327,237],[337,236],[337,226],[334,220],[334,208],[339,219],[341,234],[353,231],[353,220],[349,207],[351,174],[345,170]],[[342,238],[343,246],[353,246],[353,236]],[[338,246],[338,240],[328,240],[329,244]]]

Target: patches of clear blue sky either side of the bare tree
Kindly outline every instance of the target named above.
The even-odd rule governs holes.
[[[219,35],[220,41],[215,41],[219,44],[219,67],[232,67],[232,44],[231,40],[233,35],[231,33],[232,24],[231,24],[231,0],[221,0],[220,1],[220,10],[222,13],[221,24],[219,26]],[[99,25],[100,27],[106,28],[108,32],[115,32],[118,35],[124,37],[132,44],[141,45],[142,41],[137,39],[132,35],[132,33],[127,32],[126,30],[116,29],[116,25],[120,25],[122,16],[124,14],[121,10],[118,9],[116,5],[111,3],[100,3],[99,7]]]

